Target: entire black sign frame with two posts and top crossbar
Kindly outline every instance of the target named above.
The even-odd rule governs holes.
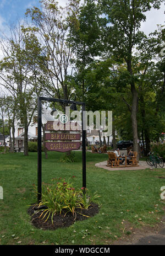
[[[38,204],[42,198],[42,101],[45,102],[59,102],[59,103],[68,103],[68,104],[76,104],[82,105],[82,115],[81,115],[81,130],[82,130],[82,153],[83,153],[83,187],[86,188],[86,130],[83,129],[83,113],[85,111],[85,103],[84,102],[74,102],[73,100],[65,100],[65,99],[54,99],[48,97],[38,97],[38,166],[37,166],[37,201]]]

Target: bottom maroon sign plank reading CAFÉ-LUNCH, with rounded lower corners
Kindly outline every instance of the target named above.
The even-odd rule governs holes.
[[[67,152],[71,150],[79,150],[80,141],[59,141],[59,142],[45,142],[48,151]]]

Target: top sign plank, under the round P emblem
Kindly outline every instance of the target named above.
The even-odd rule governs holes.
[[[45,131],[80,131],[80,125],[78,122],[71,121],[66,124],[62,124],[60,121],[48,121],[45,124]]]

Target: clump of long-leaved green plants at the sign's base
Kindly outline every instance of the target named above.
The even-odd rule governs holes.
[[[91,202],[98,198],[96,193],[94,195],[86,194],[84,188],[74,188],[70,180],[68,182],[61,178],[59,180],[57,184],[42,185],[42,200],[38,206],[44,205],[47,207],[47,209],[42,210],[40,215],[42,219],[46,218],[45,222],[51,215],[53,223],[53,216],[61,214],[62,210],[65,210],[65,215],[72,212],[76,216],[76,208],[88,209]]]

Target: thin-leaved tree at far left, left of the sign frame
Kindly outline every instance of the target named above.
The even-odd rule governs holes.
[[[35,38],[35,44],[38,44]],[[3,58],[1,61],[2,85],[13,97],[13,135],[14,118],[24,127],[24,154],[28,156],[28,127],[37,107],[37,95],[40,89],[36,82],[35,44],[29,47],[24,36],[23,26],[19,23],[10,29],[10,38],[3,40]],[[14,143],[14,136],[13,136]]]

